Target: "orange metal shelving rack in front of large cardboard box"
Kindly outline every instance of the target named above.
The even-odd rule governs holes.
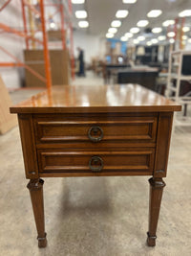
[[[45,17],[45,8],[53,7],[56,13],[60,15],[60,28],[61,28],[61,37],[62,37],[62,49],[66,48],[66,35],[64,26],[70,28],[70,56],[71,56],[71,71],[72,71],[72,78],[74,79],[74,42],[73,42],[73,24],[72,24],[72,3],[71,0],[57,0],[57,2],[52,2],[48,0],[38,0],[36,5],[32,4],[31,0],[21,0],[22,9],[22,17],[23,17],[23,31],[16,30],[7,26],[4,23],[0,23],[0,30],[1,32],[11,33],[13,35],[21,36],[25,38],[25,47],[27,50],[34,49],[35,45],[41,45],[43,48],[44,53],[44,65],[45,65],[45,78],[40,75],[38,72],[32,69],[29,65],[25,62],[21,61],[20,59],[14,57],[7,49],[0,46],[0,50],[5,52],[12,58],[12,62],[0,62],[0,67],[23,67],[27,69],[29,72],[32,73],[33,76],[38,78],[40,81],[46,83],[47,88],[52,87],[52,74],[51,74],[51,62],[50,62],[50,55],[49,55],[49,44],[48,44],[48,35],[47,35],[47,24],[49,19]],[[9,6],[11,0],[8,0],[4,3],[4,5],[0,8],[0,12]],[[66,5],[67,12],[65,11]],[[65,13],[68,15],[65,18]],[[35,30],[34,21],[32,20],[33,16],[36,16],[39,20],[38,29]],[[52,16],[53,16],[52,15]],[[66,24],[65,24],[66,23]],[[41,32],[42,39],[35,38],[35,33]]]

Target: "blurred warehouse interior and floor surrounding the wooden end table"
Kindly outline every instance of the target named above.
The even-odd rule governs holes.
[[[0,255],[190,255],[190,7],[191,0],[0,1]],[[181,105],[157,246],[145,244],[148,176],[97,176],[43,178],[48,246],[38,248],[10,107],[57,85],[126,83]]]

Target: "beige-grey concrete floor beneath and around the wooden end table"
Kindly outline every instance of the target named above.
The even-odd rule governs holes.
[[[75,82],[100,82],[78,79]],[[34,91],[33,91],[34,92]],[[11,93],[14,102],[33,92]],[[18,128],[0,136],[0,255],[191,255],[191,128],[176,128],[156,247],[147,247],[148,177],[45,178],[48,246],[37,247]]]

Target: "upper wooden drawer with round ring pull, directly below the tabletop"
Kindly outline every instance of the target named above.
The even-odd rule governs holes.
[[[80,119],[34,117],[36,142],[115,143],[155,142],[157,116],[115,116]]]

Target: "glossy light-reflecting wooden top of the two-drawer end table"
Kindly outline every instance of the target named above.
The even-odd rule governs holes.
[[[180,111],[181,106],[138,84],[56,85],[11,106],[11,113]]]

